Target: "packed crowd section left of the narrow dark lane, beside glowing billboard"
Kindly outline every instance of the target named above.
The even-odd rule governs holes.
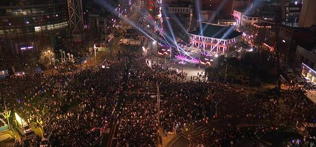
[[[91,146],[111,123],[126,58],[106,62],[109,69],[4,79],[1,102],[5,99],[7,110],[17,112],[35,128],[51,132],[53,146]],[[48,99],[53,103],[45,103]],[[67,110],[71,107],[76,110]],[[24,138],[21,143],[39,145],[37,139]]]

